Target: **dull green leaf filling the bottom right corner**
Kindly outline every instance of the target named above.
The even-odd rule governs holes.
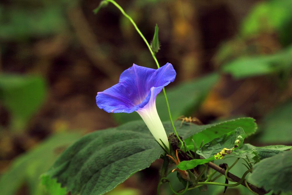
[[[248,175],[250,183],[274,193],[292,191],[292,151],[286,151],[273,157],[263,159],[253,167]]]

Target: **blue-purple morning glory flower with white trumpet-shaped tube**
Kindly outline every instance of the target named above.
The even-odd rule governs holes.
[[[176,72],[170,63],[158,68],[146,68],[133,64],[125,70],[119,83],[98,92],[96,104],[108,113],[132,113],[136,111],[161,146],[169,149],[169,142],[158,116],[155,99],[163,87],[173,82]]]

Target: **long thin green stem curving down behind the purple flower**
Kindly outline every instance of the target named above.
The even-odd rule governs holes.
[[[142,32],[139,30],[139,28],[138,28],[138,26],[136,25],[136,23],[134,22],[134,20],[133,20],[128,14],[126,14],[126,12],[124,11],[124,9],[123,9],[119,4],[117,4],[116,1],[114,1],[114,0],[105,0],[105,1],[108,1],[108,2],[110,2],[110,3],[112,3],[112,4],[114,4],[114,6],[116,6],[116,7],[121,11],[121,13],[122,13],[126,18],[128,18],[128,19],[130,20],[130,22],[133,24],[133,26],[135,27],[135,29],[136,29],[136,31],[138,32],[138,34],[140,34],[140,36],[142,37],[142,39],[143,39],[144,42],[146,43],[146,45],[147,45],[147,47],[148,47],[148,49],[149,49],[149,51],[150,51],[150,53],[151,53],[151,55],[152,55],[152,58],[154,59],[156,65],[157,65],[157,68],[160,68],[159,63],[158,63],[158,61],[157,61],[157,59],[156,59],[156,57],[155,57],[154,52],[152,51],[152,49],[151,49],[149,43],[147,42],[147,40],[146,40],[146,38],[144,37],[144,35],[142,34]],[[169,108],[169,103],[168,103],[167,96],[166,96],[166,92],[165,92],[165,89],[164,89],[164,88],[163,88],[163,94],[164,94],[164,97],[165,97],[165,101],[166,101],[166,105],[167,105],[167,110],[168,110],[168,115],[169,115],[169,118],[170,118],[170,122],[171,122],[172,128],[173,128],[173,130],[174,130],[174,133],[175,133],[176,137],[178,138],[178,140],[180,141],[181,145],[183,146],[183,141],[182,141],[182,140],[180,139],[180,137],[178,136],[178,133],[177,133],[177,131],[176,131],[176,129],[175,129],[175,126],[174,126],[174,123],[173,123],[173,120],[172,120],[172,117],[171,117],[171,112],[170,112],[170,108]]]

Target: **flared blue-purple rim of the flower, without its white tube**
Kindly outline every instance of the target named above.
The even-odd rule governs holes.
[[[170,63],[157,70],[133,64],[121,74],[118,84],[98,92],[96,104],[109,113],[134,112],[149,102],[151,87],[154,87],[152,98],[155,99],[164,86],[174,81],[175,76]]]

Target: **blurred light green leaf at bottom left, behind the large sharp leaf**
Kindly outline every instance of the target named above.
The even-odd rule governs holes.
[[[0,177],[1,194],[14,195],[23,184],[28,185],[31,195],[44,194],[45,189],[40,184],[40,175],[48,170],[59,154],[79,137],[80,134],[77,133],[55,134],[16,158],[11,167]]]

